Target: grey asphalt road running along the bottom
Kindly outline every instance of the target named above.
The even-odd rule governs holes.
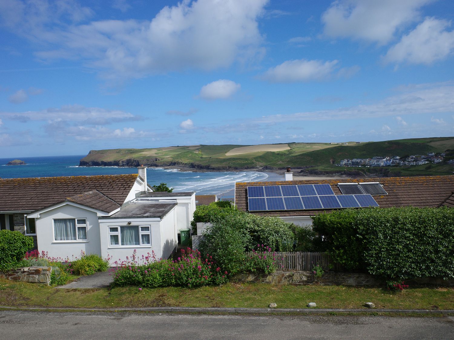
[[[454,339],[454,317],[0,311],[2,339]]]

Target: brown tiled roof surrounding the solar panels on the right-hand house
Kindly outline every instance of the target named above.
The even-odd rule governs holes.
[[[418,176],[418,177],[380,177],[362,179],[337,179],[337,180],[293,180],[277,182],[247,182],[235,185],[235,204],[238,209],[247,211],[247,187],[253,185],[295,185],[327,183],[331,185],[336,195],[341,191],[337,183],[380,182],[387,195],[373,196],[381,208],[415,206],[439,207],[449,205],[448,198],[454,192],[454,176]],[[453,201],[450,201],[453,204]],[[312,216],[327,210],[293,210],[293,211],[267,211],[254,212],[257,215],[271,216]]]

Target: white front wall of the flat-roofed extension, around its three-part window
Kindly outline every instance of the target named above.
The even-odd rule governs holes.
[[[150,226],[151,231],[151,246],[127,246],[113,247],[109,243],[109,227],[120,227],[130,225]],[[101,233],[101,255],[104,258],[111,257],[110,265],[114,266],[114,262],[126,260],[128,256],[131,258],[134,249],[137,251],[136,256],[147,256],[148,253],[154,251],[156,259],[163,257],[162,239],[161,239],[161,222],[150,219],[125,219],[125,220],[99,220],[99,228]],[[167,258],[167,257],[166,257]]]

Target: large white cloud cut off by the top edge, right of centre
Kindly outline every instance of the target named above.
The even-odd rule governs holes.
[[[419,8],[432,0],[339,0],[321,16],[324,33],[333,38],[388,43],[403,25],[419,17]]]

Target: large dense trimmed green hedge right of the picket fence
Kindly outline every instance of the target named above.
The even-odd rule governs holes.
[[[347,209],[313,217],[320,248],[384,278],[454,277],[454,209]]]

